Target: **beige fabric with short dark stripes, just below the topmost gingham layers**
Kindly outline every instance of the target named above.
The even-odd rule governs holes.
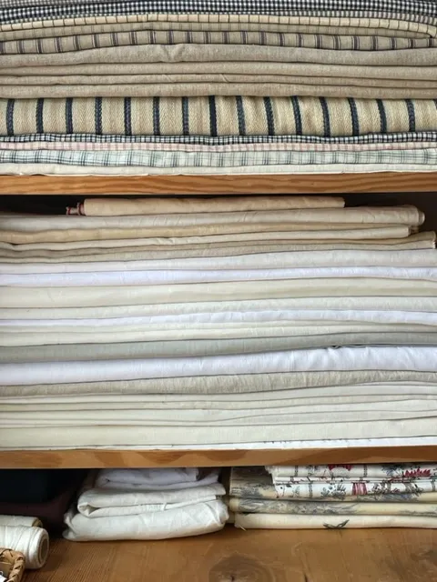
[[[136,45],[268,45],[327,50],[386,51],[437,46],[435,38],[376,35],[304,35],[246,31],[145,30],[94,35],[54,36],[0,42],[0,55],[46,55],[93,48]]]

